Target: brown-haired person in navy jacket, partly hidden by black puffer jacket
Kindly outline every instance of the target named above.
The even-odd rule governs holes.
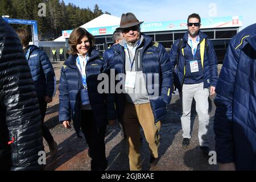
[[[47,104],[52,102],[52,97],[54,97],[56,93],[55,73],[46,52],[34,45],[28,46],[28,43],[32,38],[31,33],[26,29],[16,30],[16,33],[22,43],[23,51],[26,55],[26,60],[35,84],[41,111],[43,137],[48,143],[51,156],[55,156],[57,153],[57,143],[53,140],[47,126],[44,125]]]

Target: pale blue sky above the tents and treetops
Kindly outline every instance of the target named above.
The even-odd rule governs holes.
[[[81,8],[89,7],[92,10],[97,3],[104,12],[108,11],[118,17],[121,17],[122,13],[132,12],[144,22],[183,20],[187,19],[189,14],[198,13],[201,18],[241,15],[242,28],[256,23],[255,0],[64,0],[64,2],[71,2]]]

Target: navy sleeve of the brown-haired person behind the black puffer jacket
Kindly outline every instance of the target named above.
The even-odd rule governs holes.
[[[46,95],[48,97],[54,97],[56,93],[56,80],[51,61],[49,61],[49,58],[44,51],[40,52],[39,59],[43,68],[44,76],[46,76]]]

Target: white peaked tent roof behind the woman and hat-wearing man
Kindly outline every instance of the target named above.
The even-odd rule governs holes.
[[[106,27],[106,26],[117,26],[120,24],[121,18],[117,16],[112,16],[108,14],[103,14],[98,16],[97,18],[94,18],[93,20],[90,20],[90,22],[87,22],[83,24],[82,28],[96,28],[96,27]],[[55,42],[65,42],[64,36],[60,36],[59,38],[54,40]]]

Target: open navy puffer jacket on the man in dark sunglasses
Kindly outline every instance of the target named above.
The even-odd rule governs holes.
[[[216,86],[218,80],[218,69],[217,69],[217,56],[213,48],[212,42],[208,39],[208,36],[203,32],[199,31],[200,36],[200,44],[197,47],[197,51],[195,54],[195,60],[201,60],[200,56],[200,48],[201,42],[205,39],[205,49],[204,49],[204,63],[203,63],[203,72],[204,72],[204,88],[209,88],[209,86]],[[183,44],[181,48],[184,48],[184,56],[182,55],[182,51],[179,48],[179,39],[176,40],[172,49],[170,51],[170,60],[172,63],[172,67],[175,68],[177,64],[177,57],[179,58],[179,65],[175,68],[175,76],[177,76],[177,80],[175,79],[175,86],[180,85],[182,87],[184,81],[184,68],[185,68],[185,60],[194,60],[191,47],[188,44],[188,32],[184,34]],[[177,88],[180,90],[180,86]]]

